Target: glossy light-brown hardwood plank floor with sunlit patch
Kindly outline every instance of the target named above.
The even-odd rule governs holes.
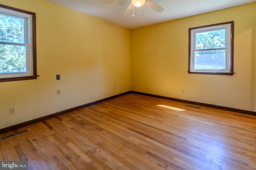
[[[35,170],[256,169],[256,117],[186,105],[123,95],[1,134],[29,129],[0,141],[0,160]]]

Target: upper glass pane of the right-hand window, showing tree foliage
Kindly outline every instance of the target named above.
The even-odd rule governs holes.
[[[196,33],[196,49],[225,48],[225,30]]]

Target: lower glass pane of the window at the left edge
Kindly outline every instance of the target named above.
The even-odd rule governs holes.
[[[0,44],[0,73],[26,71],[26,46]]]

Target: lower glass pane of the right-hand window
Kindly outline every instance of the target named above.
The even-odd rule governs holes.
[[[226,69],[226,50],[195,51],[194,69]]]

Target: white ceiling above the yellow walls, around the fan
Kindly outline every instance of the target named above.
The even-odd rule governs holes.
[[[134,8],[135,16],[130,14],[122,15],[129,6],[131,0],[126,0],[124,5],[118,4],[118,0],[49,0],[56,4],[102,18],[103,20],[134,29],[148,26],[168,20],[174,20],[196,14],[202,14],[232,6],[238,6],[256,0],[153,0],[164,8],[164,11],[157,13],[148,6]],[[112,3],[109,3],[111,2]]]

